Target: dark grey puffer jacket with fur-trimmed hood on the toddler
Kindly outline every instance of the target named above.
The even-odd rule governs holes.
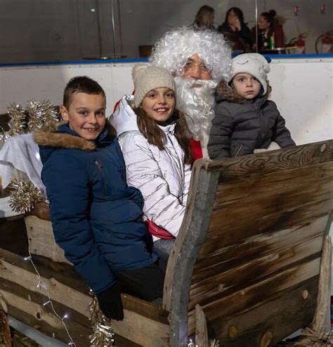
[[[295,145],[285,119],[275,103],[268,100],[270,91],[268,85],[266,95],[246,100],[221,82],[208,142],[209,158],[245,156],[254,153],[254,149],[267,149],[271,141],[280,147]]]

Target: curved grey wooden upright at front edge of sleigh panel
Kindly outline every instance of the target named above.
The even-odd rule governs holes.
[[[188,289],[192,268],[209,226],[218,179],[217,173],[211,175],[204,171],[208,161],[197,160],[194,164],[187,217],[166,269],[163,303],[170,311],[171,346],[188,346]]]

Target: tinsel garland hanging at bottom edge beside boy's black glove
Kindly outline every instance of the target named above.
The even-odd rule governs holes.
[[[101,313],[93,291],[90,291],[90,294],[93,296],[89,305],[91,328],[93,329],[93,334],[89,336],[90,344],[94,347],[115,346],[115,333],[111,326],[111,320]]]

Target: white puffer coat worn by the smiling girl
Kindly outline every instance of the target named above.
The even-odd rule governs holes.
[[[138,130],[136,114],[128,103],[131,99],[123,96],[110,118],[124,155],[127,183],[143,194],[145,216],[176,237],[188,200],[191,167],[184,164],[183,149],[174,135],[175,124],[160,127],[166,134],[163,151],[148,144]]]

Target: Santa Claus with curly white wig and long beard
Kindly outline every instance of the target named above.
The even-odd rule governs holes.
[[[177,108],[193,134],[192,152],[209,158],[207,143],[214,118],[215,89],[228,80],[231,49],[222,34],[181,27],[157,41],[150,62],[168,69],[176,82]]]

